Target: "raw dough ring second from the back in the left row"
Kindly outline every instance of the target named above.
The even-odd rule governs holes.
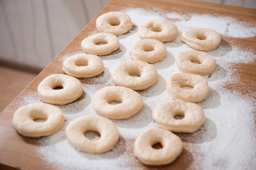
[[[119,40],[116,35],[110,33],[97,33],[84,38],[81,47],[91,55],[108,55],[118,49]]]

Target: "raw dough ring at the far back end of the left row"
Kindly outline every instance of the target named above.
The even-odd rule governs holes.
[[[118,11],[104,13],[96,19],[96,28],[99,32],[116,36],[128,32],[132,26],[130,16]]]

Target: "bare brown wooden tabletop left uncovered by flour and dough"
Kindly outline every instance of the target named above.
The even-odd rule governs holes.
[[[50,64],[48,64],[43,72],[36,77],[27,87],[24,89],[17,98],[15,98],[11,104],[0,115],[0,169],[53,169],[51,165],[45,164],[36,152],[36,149],[40,147],[38,145],[39,139],[33,139],[29,137],[23,137],[18,135],[13,128],[11,120],[13,113],[18,109],[18,101],[21,96],[29,95],[30,92],[37,91],[37,86],[45,77],[50,74],[60,73],[65,74],[62,71],[62,57],[72,51],[80,51],[81,41],[89,35],[90,31],[95,30],[95,21],[98,16],[108,11],[118,11],[126,7],[142,7],[146,10],[155,10],[155,7],[162,9],[164,12],[177,11],[181,13],[208,13],[215,16],[231,16],[238,19],[238,21],[246,21],[247,23],[256,23],[256,10],[250,8],[240,8],[235,6],[225,6],[221,4],[209,4],[199,1],[189,0],[112,0],[110,1],[95,17],[94,19],[72,40],[72,42],[55,57]],[[239,44],[243,47],[250,48],[256,54],[256,38],[238,39],[222,37],[223,40],[231,42],[233,44]],[[237,69],[237,74],[240,74],[241,85],[226,84],[227,91],[237,90],[243,94],[248,94],[249,91],[255,91],[256,81],[256,62],[250,64],[234,64],[233,67]],[[252,94],[253,95],[253,94]],[[255,97],[255,96],[254,96]],[[256,116],[255,116],[256,118]],[[133,145],[133,141],[126,141],[127,145]],[[186,169],[189,164],[193,162],[189,152],[193,152],[189,147],[184,148],[182,155],[172,164],[167,166],[160,166],[160,169]],[[132,150],[128,151],[132,155]],[[145,169],[151,169],[150,166],[138,166],[145,167]]]

